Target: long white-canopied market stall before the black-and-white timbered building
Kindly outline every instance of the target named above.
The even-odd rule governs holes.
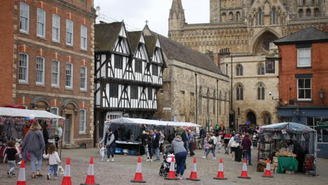
[[[107,128],[111,128],[116,139],[116,153],[139,154],[142,131],[153,128],[164,130],[165,133],[173,133],[177,127],[198,128],[200,125],[187,122],[158,121],[140,118],[118,118],[104,123],[104,135]],[[131,152],[135,151],[135,152]]]

